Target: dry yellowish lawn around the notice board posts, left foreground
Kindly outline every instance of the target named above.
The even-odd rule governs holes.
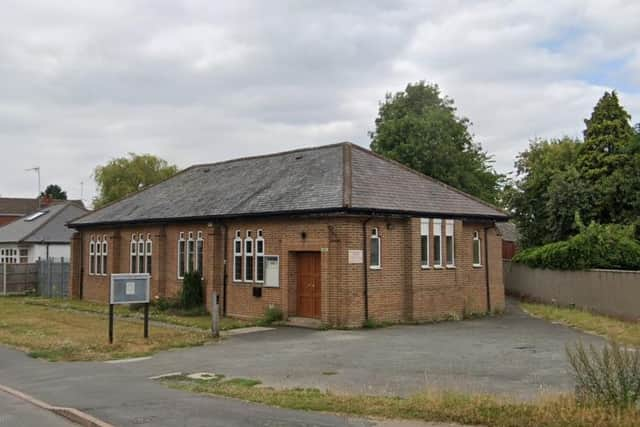
[[[118,319],[114,344],[108,342],[108,319],[76,310],[27,304],[24,298],[0,298],[0,342],[50,361],[109,360],[138,357],[176,347],[202,345],[205,331],[150,325]]]

